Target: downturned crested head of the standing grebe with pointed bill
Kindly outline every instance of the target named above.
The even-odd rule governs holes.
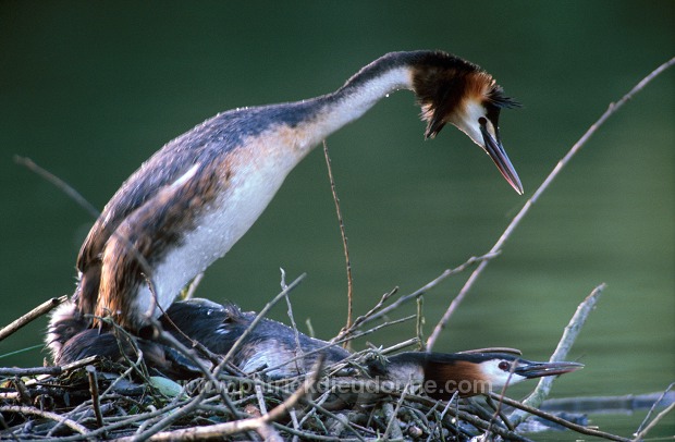
[[[523,184],[502,146],[499,116],[503,108],[518,107],[492,75],[444,52],[425,53],[413,72],[413,87],[427,121],[425,136],[433,138],[446,123],[469,136],[492,159],[518,193]]]

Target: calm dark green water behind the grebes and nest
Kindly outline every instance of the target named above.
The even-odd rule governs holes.
[[[93,222],[13,155],[30,157],[100,208],[156,149],[219,111],[324,94],[388,51],[439,48],[481,64],[525,105],[504,112],[501,126],[527,197],[611,101],[675,52],[668,1],[199,7],[1,3],[0,324],[72,292]],[[544,359],[577,304],[606,282],[570,354],[586,369],[560,379],[554,395],[640,394],[675,379],[673,79],[670,72],[654,82],[581,150],[435,349],[501,345]],[[394,286],[407,294],[486,253],[526,201],[454,128],[424,142],[417,113],[401,91],[329,139],[357,314]],[[280,267],[289,279],[308,273],[292,295],[296,321],[309,319],[320,337],[332,336],[345,320],[346,282],[320,151],[209,269],[199,295],[259,309],[279,291]],[[427,334],[467,277],[425,296]],[[285,307],[273,317],[287,320]],[[38,345],[44,327],[0,343],[0,355]],[[412,335],[408,323],[369,342]],[[0,365],[44,356],[36,348]],[[629,435],[643,415],[596,419]],[[673,433],[671,419],[654,435]]]

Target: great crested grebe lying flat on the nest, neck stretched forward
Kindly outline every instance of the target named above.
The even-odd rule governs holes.
[[[57,364],[69,364],[87,356],[106,356],[122,360],[122,352],[135,360],[131,344],[112,331],[88,329],[87,321],[76,314],[73,304],[63,304],[57,310],[48,334],[48,346]],[[170,318],[170,320],[169,320]],[[174,337],[191,346],[192,341],[204,344],[209,351],[224,355],[251,327],[254,312],[244,312],[233,304],[220,305],[207,299],[176,302],[160,317],[162,327]],[[64,327],[61,327],[64,326]],[[180,331],[179,331],[180,330]],[[187,339],[188,336],[189,339]],[[137,340],[149,367],[174,379],[199,376],[191,369],[186,358],[171,347],[155,341]],[[299,343],[299,348],[298,348]],[[272,378],[291,378],[308,372],[319,355],[326,364],[336,364],[351,353],[339,345],[295,333],[280,322],[262,319],[249,331],[231,361],[245,373],[260,369]],[[389,388],[402,390],[408,382],[421,388],[430,397],[449,400],[457,392],[467,397],[498,390],[527,379],[556,376],[575,371],[584,366],[577,363],[537,363],[520,357],[513,349],[481,349],[461,353],[404,352],[385,359],[373,358],[360,365],[365,372],[346,370],[341,375],[357,379],[389,382]],[[382,390],[384,392],[384,390]],[[348,393],[348,392],[345,392]],[[372,393],[379,393],[373,391]],[[368,401],[368,397],[348,398]]]

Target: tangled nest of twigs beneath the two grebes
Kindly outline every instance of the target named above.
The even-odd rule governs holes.
[[[576,336],[568,331],[580,329],[600,292],[596,290],[581,304],[556,353],[566,352]],[[285,294],[286,291],[278,295],[261,315]],[[356,331],[382,311],[396,309],[401,300],[418,296],[420,292],[402,296],[390,305],[386,300],[391,295],[384,296],[366,316],[354,321],[353,335],[400,322],[394,320],[364,332]],[[26,317],[42,315],[61,300],[45,303]],[[372,353],[380,357],[418,342],[415,337],[391,348],[358,352],[338,365],[359,364],[360,358],[372,357]],[[198,348],[177,351],[189,356],[188,353]],[[0,375],[5,377],[0,384],[0,438],[464,441],[488,435],[523,441],[527,440],[519,432],[524,427],[518,427],[518,431],[516,427],[524,416],[513,413],[519,408],[527,416],[533,415],[544,428],[557,426],[624,440],[585,427],[584,416],[563,419],[541,412],[537,405],[526,405],[498,393],[443,402],[420,395],[406,385],[341,402],[335,401],[335,392],[354,391],[359,385],[354,379],[347,384],[336,375],[339,367],[324,367],[321,361],[307,376],[282,381],[244,375],[226,364],[217,365],[218,369],[205,369],[201,378],[181,383],[154,376],[142,355],[121,365],[90,357],[63,367],[0,369]],[[369,390],[364,386],[361,391]]]

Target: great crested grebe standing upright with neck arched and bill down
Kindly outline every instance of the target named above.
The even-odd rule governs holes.
[[[500,110],[516,102],[492,76],[440,51],[388,53],[332,94],[223,112],[157,151],[106,205],[79,250],[78,311],[139,332],[230,250],[318,143],[397,89],[415,93],[427,138],[455,125],[523,194],[498,126]]]

